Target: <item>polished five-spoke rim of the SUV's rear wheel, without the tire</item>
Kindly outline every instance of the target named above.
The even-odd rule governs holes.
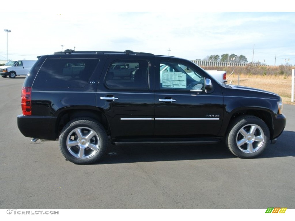
[[[88,127],[73,129],[67,137],[68,151],[76,158],[87,159],[99,150],[99,136]]]

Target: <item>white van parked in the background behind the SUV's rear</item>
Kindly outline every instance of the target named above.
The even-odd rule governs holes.
[[[17,75],[27,75],[35,62],[35,60],[9,61],[4,66],[0,66],[0,75],[2,77],[9,76],[10,78]]]

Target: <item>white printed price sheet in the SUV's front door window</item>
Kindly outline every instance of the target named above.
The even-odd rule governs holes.
[[[162,88],[186,89],[186,74],[182,72],[162,72]]]

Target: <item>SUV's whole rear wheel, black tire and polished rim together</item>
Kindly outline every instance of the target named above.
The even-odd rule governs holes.
[[[76,118],[67,123],[58,141],[63,156],[75,164],[99,161],[108,143],[104,127],[91,118]]]

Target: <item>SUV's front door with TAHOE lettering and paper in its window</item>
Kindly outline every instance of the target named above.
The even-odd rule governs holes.
[[[156,137],[217,136],[223,119],[223,96],[213,79],[212,90],[204,90],[207,76],[187,60],[156,58]]]

